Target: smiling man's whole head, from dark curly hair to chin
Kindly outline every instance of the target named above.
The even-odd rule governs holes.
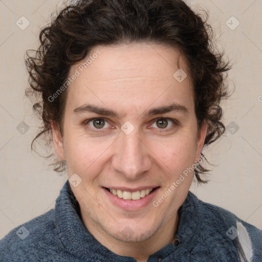
[[[41,95],[36,138],[52,143],[54,170],[77,176],[71,188],[93,228],[145,241],[172,222],[194,176],[205,182],[196,163],[224,133],[229,70],[211,37],[181,0],[78,1],[41,31],[27,60],[28,94]],[[143,201],[115,199],[149,188]]]

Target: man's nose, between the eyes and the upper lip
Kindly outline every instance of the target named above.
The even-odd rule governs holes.
[[[136,129],[129,135],[121,132],[114,151],[112,168],[128,180],[138,180],[151,168],[150,150]]]

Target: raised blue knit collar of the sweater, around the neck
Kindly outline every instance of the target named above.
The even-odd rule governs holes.
[[[179,209],[179,226],[176,237],[181,243],[178,246],[168,244],[149,257],[162,259],[176,252],[190,250],[196,243],[200,233],[199,200],[193,193],[188,192],[187,198]],[[64,248],[80,260],[86,257],[96,261],[136,262],[132,257],[120,256],[100,244],[89,233],[80,219],[80,207],[71,190],[69,181],[65,182],[55,205],[55,224]],[[184,253],[184,252],[182,252]]]

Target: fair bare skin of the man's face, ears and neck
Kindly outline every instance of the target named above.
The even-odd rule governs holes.
[[[54,148],[67,161],[69,178],[77,173],[82,179],[71,188],[85,227],[116,254],[142,262],[173,241],[178,209],[193,172],[158,207],[149,203],[139,210],[123,210],[102,187],[156,185],[160,188],[154,200],[158,200],[200,158],[207,125],[204,122],[198,129],[189,73],[178,50],[148,43],[97,46],[91,53],[96,50],[101,55],[68,88],[63,137],[52,122]],[[179,56],[180,68],[188,75],[182,82],[173,77]],[[71,68],[70,75],[79,64]],[[146,115],[151,108],[173,102],[188,112]],[[74,113],[85,104],[114,110],[119,118]],[[167,127],[159,127],[160,117],[168,122]],[[85,122],[92,118],[104,118],[105,125],[98,129],[92,121]],[[126,121],[135,128],[129,135],[121,130]],[[121,233],[126,227],[132,231],[129,237]]]

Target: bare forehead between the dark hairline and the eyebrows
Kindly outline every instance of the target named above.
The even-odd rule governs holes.
[[[91,101],[134,110],[150,103],[157,106],[179,102],[193,107],[186,61],[171,47],[96,46],[88,57],[71,68],[69,75],[75,73],[78,76],[70,84],[67,98],[72,107]]]

